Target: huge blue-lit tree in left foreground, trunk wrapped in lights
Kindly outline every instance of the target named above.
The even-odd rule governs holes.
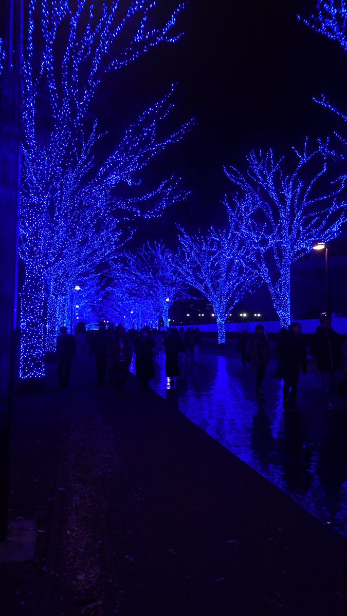
[[[20,256],[25,262],[21,294],[22,378],[44,375],[44,315],[48,348],[81,275],[119,249],[120,233],[136,217],[156,216],[182,192],[179,180],[141,192],[141,171],[164,148],[182,138],[159,126],[172,108],[169,97],[149,107],[101,163],[102,136],[93,115],[99,84],[160,43],[174,43],[178,14],[156,3],[122,5],[93,0],[30,0],[23,62],[23,177]],[[164,15],[167,15],[165,18]],[[0,49],[1,55],[1,49]],[[126,194],[125,188],[133,189]],[[106,222],[107,221],[107,222]],[[135,222],[134,222],[135,221]],[[128,235],[131,231],[128,231]]]

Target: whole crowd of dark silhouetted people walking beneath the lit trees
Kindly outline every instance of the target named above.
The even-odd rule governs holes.
[[[155,363],[159,352],[165,351],[166,376],[171,386],[175,386],[181,378],[182,367],[186,362],[198,362],[201,332],[199,328],[170,328],[162,333],[144,327],[140,332],[125,331],[122,325],[99,323],[98,330],[86,332],[80,327],[76,338],[81,346],[89,346],[94,355],[96,373],[102,386],[108,379],[114,384],[119,394],[127,380],[132,355],[135,353],[135,374],[140,381],[141,390],[155,376]],[[300,323],[291,323],[288,329],[283,328],[278,334],[275,346],[276,359],[270,363],[270,344],[264,325],[258,324],[254,333],[248,335],[243,331],[238,340],[237,351],[241,352],[243,365],[250,365],[251,374],[256,383],[256,395],[264,398],[262,384],[269,371],[270,376],[283,380],[283,408],[295,410],[296,396],[300,373],[307,371],[307,349],[301,333]],[[57,338],[58,377],[61,387],[69,383],[73,355],[75,354],[75,337],[67,333],[67,328],[61,327]],[[332,317],[323,313],[320,325],[313,334],[309,344],[311,356],[316,361],[320,371],[325,404],[328,410],[333,410],[334,403],[341,390],[344,379],[344,354],[347,355],[347,341],[332,328]]]

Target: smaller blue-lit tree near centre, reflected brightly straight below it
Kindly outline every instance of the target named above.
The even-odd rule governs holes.
[[[218,342],[225,344],[225,321],[230,310],[248,291],[259,285],[257,272],[249,267],[253,242],[245,234],[249,210],[235,202],[227,207],[228,229],[211,227],[206,235],[188,235],[179,229],[182,259],[177,267],[188,285],[211,302],[218,326]]]

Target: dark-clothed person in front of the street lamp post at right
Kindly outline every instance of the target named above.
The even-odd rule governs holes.
[[[310,349],[320,370],[328,410],[333,409],[333,397],[337,393],[343,368],[342,344],[340,334],[332,329],[332,317],[326,312],[322,313]]]

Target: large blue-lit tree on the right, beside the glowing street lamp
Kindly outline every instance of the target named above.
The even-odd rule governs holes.
[[[330,169],[336,158],[328,142],[310,150],[306,141],[302,152],[293,150],[291,161],[276,159],[272,150],[251,152],[245,174],[227,171],[240,200],[253,210],[245,227],[253,243],[251,264],[269,288],[282,327],[291,321],[291,264],[314,241],[337,237],[346,221],[345,177]]]

